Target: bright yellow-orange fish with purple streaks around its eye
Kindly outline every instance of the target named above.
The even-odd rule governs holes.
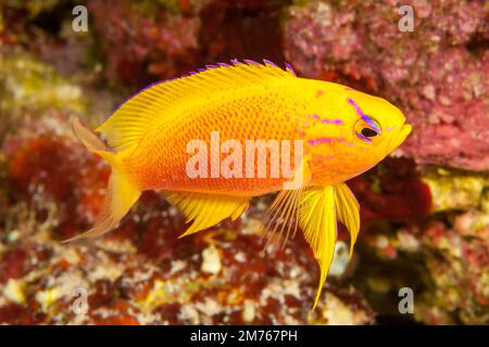
[[[109,146],[73,121],[80,141],[112,167],[95,227],[74,239],[112,230],[145,190],[162,191],[192,221],[183,235],[236,219],[253,196],[279,191],[268,239],[303,231],[321,271],[314,309],[337,221],[350,232],[350,256],[359,233],[359,204],[344,181],[399,146],[411,132],[404,123],[384,99],[299,78],[290,65],[268,61],[231,61],[153,83],[96,129]]]

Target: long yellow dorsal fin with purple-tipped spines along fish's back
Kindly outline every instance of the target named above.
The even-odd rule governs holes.
[[[120,105],[96,131],[101,132],[115,152],[135,150],[145,134],[165,116],[195,100],[217,91],[249,87],[271,78],[294,77],[290,65],[284,70],[272,62],[231,61],[208,65],[188,76],[150,85]]]

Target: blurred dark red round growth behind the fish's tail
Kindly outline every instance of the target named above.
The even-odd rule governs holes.
[[[4,143],[3,152],[13,198],[28,202],[39,219],[46,219],[48,202],[55,203],[60,236],[92,221],[103,200],[109,168],[78,141],[48,133],[20,134]]]

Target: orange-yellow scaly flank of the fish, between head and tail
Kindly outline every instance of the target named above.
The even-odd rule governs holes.
[[[294,81],[292,81],[294,82]],[[251,193],[260,195],[278,190],[286,178],[189,178],[186,145],[199,139],[211,149],[211,132],[218,131],[220,142],[236,140],[301,140],[300,127],[292,118],[306,113],[306,101],[287,92],[286,83],[269,83],[259,88],[236,88],[199,101],[198,107],[183,107],[165,119],[124,160],[131,176],[146,189],[197,190],[202,192]],[[244,151],[243,151],[244,152]],[[290,156],[293,157],[293,146]],[[227,154],[221,153],[220,163]],[[259,157],[254,156],[254,177]],[[246,160],[243,160],[246,162]],[[266,158],[269,168],[271,158]],[[243,163],[243,170],[246,163]]]

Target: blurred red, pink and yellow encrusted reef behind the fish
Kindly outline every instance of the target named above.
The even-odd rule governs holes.
[[[0,323],[489,323],[487,1],[88,0],[75,33],[77,4],[0,3]],[[399,30],[403,4],[413,31]],[[177,240],[181,215],[146,193],[114,232],[60,244],[92,223],[109,175],[70,117],[96,126],[152,81],[231,59],[287,61],[388,99],[414,126],[349,182],[362,231],[350,262],[340,235],[314,312],[302,236],[259,254],[273,196]]]

